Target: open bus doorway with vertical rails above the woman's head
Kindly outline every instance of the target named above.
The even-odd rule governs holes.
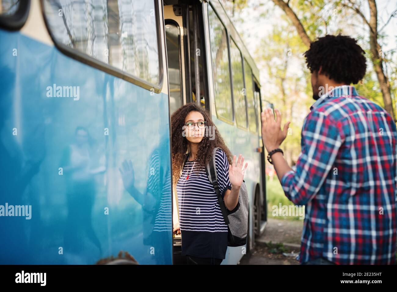
[[[209,111],[202,6],[181,0],[164,4],[170,113],[189,102]]]

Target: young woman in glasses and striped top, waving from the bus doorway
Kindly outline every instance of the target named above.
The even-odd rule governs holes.
[[[230,213],[239,207],[239,190],[248,163],[231,153],[208,113],[189,103],[172,114],[172,173],[179,204],[179,224],[173,232],[182,236],[182,255],[188,264],[217,264],[225,259],[227,225],[206,171],[216,151],[216,172],[224,204]],[[189,153],[189,155],[187,154]],[[186,162],[185,162],[186,161]],[[229,164],[230,163],[230,164]]]

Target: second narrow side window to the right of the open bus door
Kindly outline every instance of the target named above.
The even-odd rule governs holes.
[[[245,105],[245,88],[243,78],[243,60],[234,40],[230,42],[231,73],[233,77],[233,98],[237,126],[247,128],[247,108]]]

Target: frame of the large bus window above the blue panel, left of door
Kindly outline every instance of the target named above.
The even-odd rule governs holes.
[[[164,60],[163,60],[163,46],[161,42],[161,27],[160,24],[162,25],[164,19],[160,19],[160,8],[158,0],[152,0],[154,2],[154,11],[156,15],[156,37],[157,37],[157,47],[158,47],[158,65],[159,65],[159,70],[158,70],[158,83],[157,84],[152,84],[144,79],[141,79],[135,75],[132,75],[131,73],[128,73],[126,71],[123,71],[121,69],[118,69],[116,67],[113,67],[112,65],[106,64],[102,61],[99,61],[83,52],[80,52],[78,50],[75,50],[74,48],[70,48],[60,42],[55,38],[54,34],[52,33],[50,24],[48,23],[46,13],[44,12],[44,1],[41,0],[41,12],[44,18],[44,23],[46,24],[47,31],[51,36],[52,41],[54,42],[56,48],[60,50],[63,54],[65,54],[68,57],[71,57],[77,61],[80,61],[81,63],[85,63],[91,67],[94,67],[96,69],[99,69],[101,71],[104,71],[105,73],[108,73],[110,75],[116,76],[118,78],[121,78],[125,81],[128,81],[130,83],[133,83],[135,85],[138,85],[142,88],[148,89],[150,91],[154,91],[155,93],[160,93],[162,91],[163,85],[164,85]],[[165,34],[165,32],[164,32]],[[165,37],[165,35],[164,35]],[[164,44],[164,50],[165,50],[165,44]]]

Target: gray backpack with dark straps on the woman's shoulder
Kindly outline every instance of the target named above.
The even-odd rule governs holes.
[[[205,169],[210,183],[215,188],[218,196],[218,204],[222,210],[225,223],[227,224],[227,246],[244,246],[247,243],[247,231],[248,231],[248,192],[245,181],[241,184],[239,192],[239,202],[237,206],[229,211],[225,207],[224,200],[219,190],[218,177],[216,175],[215,165],[215,154],[218,147],[214,148],[212,152],[212,159],[207,164]]]

